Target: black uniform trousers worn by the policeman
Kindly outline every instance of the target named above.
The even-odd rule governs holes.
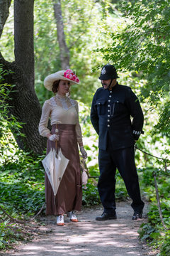
[[[98,193],[106,213],[115,210],[115,171],[118,169],[125,182],[126,189],[132,198],[132,208],[142,211],[145,203],[141,200],[140,185],[135,166],[134,147],[113,150],[108,144],[108,149],[99,149],[98,164],[100,177],[98,179]]]

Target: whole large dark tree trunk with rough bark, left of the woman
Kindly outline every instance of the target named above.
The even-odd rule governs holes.
[[[4,83],[16,85],[8,100],[10,114],[24,123],[21,132],[26,137],[17,137],[16,142],[24,151],[42,154],[46,139],[40,137],[38,132],[41,108],[34,90],[33,4],[33,0],[14,1],[16,61],[9,63],[0,53],[0,63],[4,65],[4,70],[13,72],[4,75]]]

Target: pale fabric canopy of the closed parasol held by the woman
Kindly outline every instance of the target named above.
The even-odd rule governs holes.
[[[45,159],[42,160],[42,164],[51,183],[54,196],[57,194],[57,190],[60,186],[62,176],[68,163],[69,159],[62,154],[61,149],[58,150],[58,154],[55,149],[51,149],[47,156],[45,156]]]

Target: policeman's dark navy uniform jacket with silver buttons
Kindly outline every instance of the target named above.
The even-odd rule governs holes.
[[[140,102],[130,87],[117,84],[112,90],[98,88],[91,105],[91,122],[99,135],[98,147],[106,150],[134,145],[143,127]]]

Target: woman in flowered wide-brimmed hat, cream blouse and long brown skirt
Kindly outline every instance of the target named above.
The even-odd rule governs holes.
[[[45,78],[45,87],[52,90],[55,96],[45,101],[39,124],[40,135],[48,139],[47,154],[55,148],[57,141],[57,149],[60,148],[62,154],[69,159],[55,197],[45,174],[46,214],[57,215],[57,225],[64,225],[64,213],[67,213],[71,221],[78,221],[74,210],[81,210],[82,199],[79,149],[84,159],[87,157],[82,142],[78,103],[67,97],[72,84],[79,84],[79,78],[72,70],[61,70]],[[47,128],[49,118],[51,132]]]

